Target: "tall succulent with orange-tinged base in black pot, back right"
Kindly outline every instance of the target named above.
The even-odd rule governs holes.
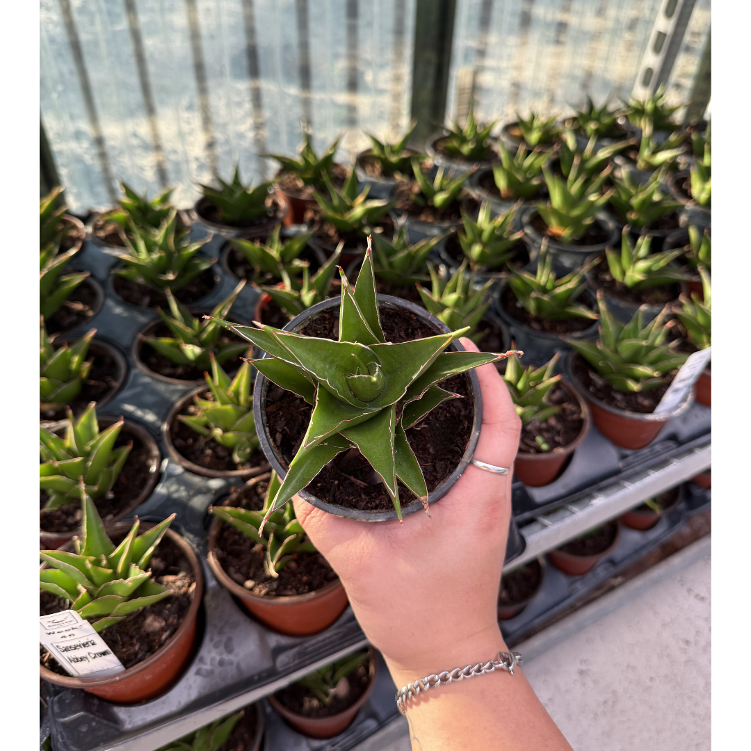
[[[612,189],[601,192],[602,183],[610,172],[608,167],[598,176],[590,178],[581,170],[579,154],[574,157],[565,181],[543,167],[550,199],[547,204],[537,204],[537,210],[550,234],[563,243],[569,243],[587,232],[587,228],[595,221],[596,213],[610,201],[614,193]]]

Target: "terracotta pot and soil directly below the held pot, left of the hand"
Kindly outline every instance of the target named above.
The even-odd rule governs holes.
[[[246,482],[222,506],[261,511],[270,475]],[[341,581],[320,553],[294,553],[276,578],[264,569],[264,550],[215,517],[209,528],[209,566],[217,580],[261,623],[289,636],[327,629],[348,605]]]

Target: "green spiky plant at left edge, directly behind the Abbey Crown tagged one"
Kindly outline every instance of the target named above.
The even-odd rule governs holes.
[[[68,409],[65,437],[39,428],[39,490],[47,491],[47,505],[57,508],[80,498],[79,483],[86,484],[86,495],[99,498],[112,490],[125,465],[133,444],[115,448],[122,418],[99,431],[95,403],[89,404],[74,421]]]

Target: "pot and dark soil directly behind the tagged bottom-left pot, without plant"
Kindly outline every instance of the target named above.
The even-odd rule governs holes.
[[[116,418],[98,418],[99,427],[105,430],[115,424]],[[63,430],[65,424],[59,424]],[[53,432],[58,432],[52,429]],[[159,481],[161,452],[151,433],[140,425],[123,421],[115,448],[133,442],[125,465],[110,493],[95,499],[97,511],[106,524],[113,524],[132,514],[146,502]],[[53,549],[80,535],[81,508],[79,502],[57,508],[44,509],[47,494],[39,492],[39,547]]]

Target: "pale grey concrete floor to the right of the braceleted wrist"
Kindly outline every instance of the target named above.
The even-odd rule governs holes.
[[[711,565],[704,538],[516,647],[576,751],[711,748]]]

